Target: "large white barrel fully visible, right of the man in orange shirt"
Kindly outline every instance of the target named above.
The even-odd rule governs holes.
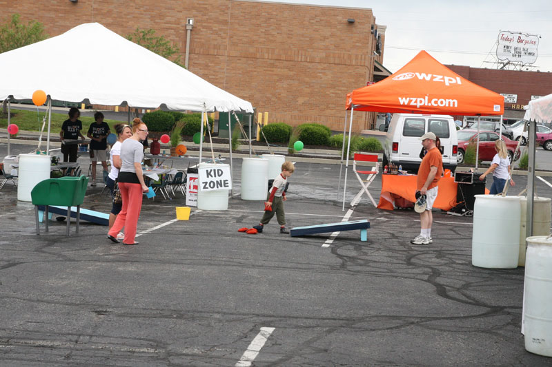
[[[475,195],[471,264],[515,269],[520,255],[520,197]]]

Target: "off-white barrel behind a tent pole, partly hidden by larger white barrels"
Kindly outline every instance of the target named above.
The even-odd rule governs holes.
[[[527,237],[527,198],[525,196],[520,199],[520,209],[520,258],[517,260],[517,266],[525,266],[525,238]],[[533,199],[533,235],[549,235],[551,213],[551,198]]]

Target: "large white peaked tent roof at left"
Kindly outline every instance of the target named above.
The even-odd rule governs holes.
[[[99,23],[85,23],[32,45],[0,54],[0,100],[52,99],[197,112],[253,112],[248,101],[132,43]]]

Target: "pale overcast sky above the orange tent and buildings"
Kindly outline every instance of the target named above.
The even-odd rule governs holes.
[[[396,72],[420,50],[440,63],[495,68],[499,32],[538,34],[536,68],[552,72],[552,0],[280,0],[325,6],[371,8],[386,25],[384,66]]]

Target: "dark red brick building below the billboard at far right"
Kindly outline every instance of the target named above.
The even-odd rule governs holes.
[[[446,67],[477,85],[505,95],[504,119],[509,123],[523,118],[523,106],[529,104],[531,98],[552,93],[550,72],[481,69],[460,65]]]

